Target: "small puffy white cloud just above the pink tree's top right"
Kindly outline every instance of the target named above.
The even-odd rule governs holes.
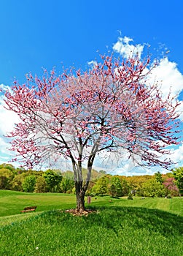
[[[133,39],[130,37],[119,37],[117,42],[113,45],[113,50],[120,53],[125,58],[133,56],[138,53],[139,58],[141,58],[141,53],[144,50],[144,45],[132,45]]]

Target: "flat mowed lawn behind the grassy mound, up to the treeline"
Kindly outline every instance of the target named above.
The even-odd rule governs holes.
[[[85,198],[87,202],[87,197]],[[36,212],[20,214],[26,206],[37,206]],[[9,190],[0,190],[0,226],[11,224],[15,221],[28,219],[42,211],[75,208],[76,196],[60,193],[25,193]],[[133,197],[133,200],[127,200],[127,197],[119,199],[109,196],[92,197],[90,206],[101,207],[141,207],[141,208],[157,208],[168,211],[183,217],[183,198],[174,197],[172,199],[165,198],[145,198]]]

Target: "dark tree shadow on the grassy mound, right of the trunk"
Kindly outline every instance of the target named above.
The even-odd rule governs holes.
[[[93,207],[93,210],[99,211],[101,214],[91,214],[89,218],[85,218],[87,225],[93,225],[88,220],[95,219],[95,223],[114,230],[115,227],[133,227],[134,229],[146,229],[149,233],[161,233],[163,236],[170,236],[176,233],[183,235],[183,217],[171,214],[158,209],[148,209],[140,207]]]

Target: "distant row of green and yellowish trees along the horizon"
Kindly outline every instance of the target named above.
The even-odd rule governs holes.
[[[84,175],[86,170],[83,169]],[[141,197],[178,196],[183,189],[183,167],[171,173],[144,176],[112,176],[104,170],[93,170],[93,176],[86,195],[111,195],[122,197],[138,195]],[[180,179],[181,178],[181,179]],[[23,192],[61,192],[74,193],[74,176],[68,170],[26,170],[13,165],[0,165],[0,189]]]

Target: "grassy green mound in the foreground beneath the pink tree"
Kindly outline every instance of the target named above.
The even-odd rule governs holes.
[[[182,256],[182,217],[148,208],[96,210],[87,217],[45,211],[1,227],[0,255]]]

